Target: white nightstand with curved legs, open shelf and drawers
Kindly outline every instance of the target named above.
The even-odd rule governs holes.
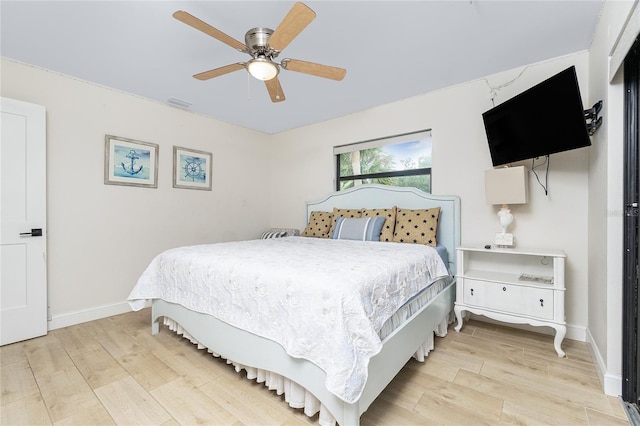
[[[494,320],[552,327],[553,341],[563,357],[567,333],[564,318],[564,261],[562,250],[526,248],[457,248],[456,331],[463,312]]]

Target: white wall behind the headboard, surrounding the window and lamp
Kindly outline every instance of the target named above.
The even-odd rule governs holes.
[[[496,104],[575,65],[583,98],[588,99],[586,52],[532,64],[513,84],[498,92]],[[334,188],[332,147],[414,130],[433,131],[433,193],[462,199],[462,241],[491,243],[499,230],[498,206],[484,201],[484,171],[491,158],[481,114],[492,106],[489,85],[499,86],[522,69],[505,71],[437,92],[383,105],[361,113],[273,137],[271,221],[304,226],[300,205]],[[338,100],[339,102],[339,100]],[[531,131],[544,126],[544,111],[532,117]],[[551,156],[549,195],[533,176],[530,200],[511,206],[513,232],[520,246],[567,252],[567,336],[585,340],[587,315],[587,208],[589,151],[583,148]],[[530,167],[530,162],[523,162]],[[544,175],[544,172],[542,172]]]

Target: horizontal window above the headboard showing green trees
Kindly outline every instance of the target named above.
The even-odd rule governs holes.
[[[336,146],[333,154],[338,191],[377,183],[431,192],[430,130]]]

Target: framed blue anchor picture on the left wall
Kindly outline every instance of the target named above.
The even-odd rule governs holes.
[[[106,135],[104,183],[157,188],[158,145]]]

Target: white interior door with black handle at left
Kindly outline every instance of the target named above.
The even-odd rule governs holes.
[[[46,125],[0,98],[0,345],[47,334]]]

